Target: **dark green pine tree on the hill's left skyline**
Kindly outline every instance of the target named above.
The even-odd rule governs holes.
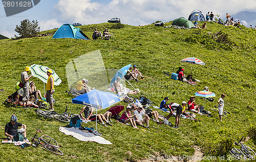
[[[16,25],[14,30],[20,35],[20,38],[32,38],[36,37],[40,32],[40,27],[38,26],[38,22],[33,20],[32,22],[28,19],[25,19],[20,22],[20,25]],[[15,35],[15,37],[17,37]]]

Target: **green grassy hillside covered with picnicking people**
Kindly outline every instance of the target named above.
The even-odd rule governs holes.
[[[170,25],[171,23],[166,23]],[[254,131],[254,139],[246,142],[255,150],[255,102],[256,102],[256,31],[244,27],[235,29],[216,23],[207,23],[207,30],[176,30],[160,28],[153,24],[145,26],[125,25],[115,29],[114,24],[102,23],[80,26],[80,29],[91,38],[94,28],[103,31],[105,27],[115,33],[115,40],[76,40],[51,39],[38,37],[20,40],[0,40],[0,100],[4,101],[14,92],[14,85],[20,80],[20,73],[25,66],[32,64],[44,65],[54,69],[62,83],[55,86],[55,111],[63,112],[69,104],[69,111],[78,114],[82,105],[71,103],[72,97],[65,93],[68,90],[66,65],[78,56],[95,50],[100,50],[106,69],[119,69],[127,64],[138,66],[145,77],[139,83],[132,85],[141,90],[157,105],[165,96],[170,102],[188,101],[191,95],[210,88],[217,96],[214,102],[205,102],[205,110],[212,117],[199,116],[201,122],[181,119],[179,129],[166,125],[157,125],[150,121],[151,129],[136,130],[130,126],[113,122],[113,126],[98,125],[98,131],[103,138],[113,145],[101,145],[92,142],[81,142],[58,131],[59,126],[65,126],[55,120],[37,116],[32,110],[22,107],[6,107],[0,105],[0,137],[4,136],[4,127],[11,114],[18,116],[18,122],[28,126],[27,136],[32,138],[36,129],[59,142],[65,156],[50,154],[40,148],[28,147],[20,149],[14,145],[1,144],[2,161],[140,161],[154,156],[189,155],[193,156],[198,146],[204,156],[227,156],[227,152],[242,136],[248,136],[248,131]],[[45,31],[42,33],[51,33]],[[193,65],[192,74],[201,80],[197,86],[173,80],[166,73],[172,73],[183,67],[189,74],[191,64],[181,63],[187,57],[196,57],[205,66]],[[84,63],[87,64],[87,63]],[[175,70],[173,71],[173,68]],[[112,76],[109,76],[112,78]],[[42,82],[33,77],[37,89],[43,91]],[[90,80],[91,82],[91,80]],[[91,84],[91,85],[90,85]],[[89,86],[93,87],[93,80]],[[129,86],[128,86],[129,87]],[[97,87],[95,87],[97,88]],[[131,87],[130,87],[131,88]],[[231,113],[219,121],[219,115],[214,105],[221,93],[225,93],[225,109]],[[139,95],[137,95],[139,96]],[[196,98],[196,103],[203,100]],[[120,102],[118,104],[127,105]],[[100,111],[104,113],[106,110]],[[166,113],[158,111],[161,115]],[[169,121],[175,121],[170,118]],[[95,123],[83,124],[95,127]],[[253,134],[253,133],[251,133]],[[253,137],[253,135],[251,135]],[[7,151],[8,150],[8,151]],[[186,159],[185,159],[186,161]]]

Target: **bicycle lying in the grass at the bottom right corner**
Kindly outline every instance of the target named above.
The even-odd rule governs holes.
[[[242,137],[242,139],[238,143],[237,142],[234,143],[235,145],[239,146],[240,149],[232,148],[229,151],[229,153],[234,155],[234,158],[236,159],[254,160],[256,153],[250,147],[241,143],[243,139],[244,137]]]

